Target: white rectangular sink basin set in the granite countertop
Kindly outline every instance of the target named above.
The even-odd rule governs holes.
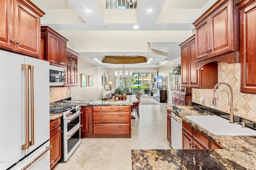
[[[228,120],[216,115],[192,115],[185,116],[214,135],[231,136],[256,136],[256,131],[248,127],[242,128],[237,123],[229,123]]]

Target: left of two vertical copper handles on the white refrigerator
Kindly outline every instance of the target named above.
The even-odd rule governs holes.
[[[28,70],[29,70],[29,65],[28,64],[21,64],[21,68],[25,69],[25,102],[26,102],[26,106],[25,106],[25,121],[26,121],[26,125],[25,125],[25,144],[22,145],[22,149],[21,150],[25,150],[29,148],[29,94],[28,94]]]

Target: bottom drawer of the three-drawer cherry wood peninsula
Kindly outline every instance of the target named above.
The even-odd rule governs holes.
[[[93,124],[94,135],[128,135],[130,124]]]

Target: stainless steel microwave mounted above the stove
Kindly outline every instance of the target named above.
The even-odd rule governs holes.
[[[50,86],[64,86],[66,84],[66,68],[50,65]]]

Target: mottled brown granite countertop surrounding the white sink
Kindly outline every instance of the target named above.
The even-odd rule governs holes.
[[[167,106],[167,109],[174,111],[183,121],[212,139],[223,149],[132,150],[133,170],[256,169],[256,137],[216,136],[185,117],[186,115],[210,115],[209,113],[190,106]]]

